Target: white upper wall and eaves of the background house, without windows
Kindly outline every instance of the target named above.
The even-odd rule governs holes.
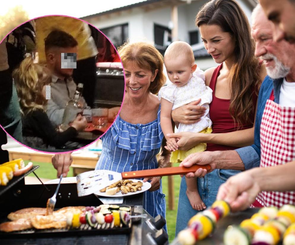
[[[242,0],[237,0],[250,20],[251,10]],[[207,1],[192,1],[191,4],[181,4],[178,6],[178,37],[179,40],[189,42],[189,31],[196,30],[194,20],[200,7]],[[128,23],[129,38],[154,41],[154,23],[169,26],[171,20],[172,6],[162,7],[145,11],[143,8],[134,8],[101,16],[99,21],[88,20],[97,28],[107,28],[114,25]],[[200,40],[201,41],[201,40]]]

